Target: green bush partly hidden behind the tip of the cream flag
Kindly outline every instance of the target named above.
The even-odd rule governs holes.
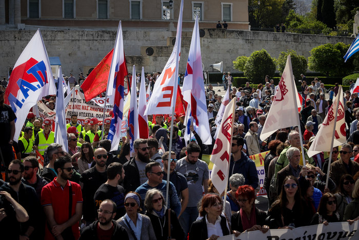
[[[279,54],[279,57],[275,60],[277,65],[277,69],[282,75],[283,70],[287,63],[287,57],[290,55],[290,59],[292,62],[293,75],[295,79],[300,79],[301,74],[307,71],[307,59],[303,55],[299,55],[294,50],[282,51]]]

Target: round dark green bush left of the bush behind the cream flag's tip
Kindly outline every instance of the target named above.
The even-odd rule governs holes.
[[[266,75],[274,76],[275,64],[265,50],[255,51],[244,66],[244,76],[252,83],[262,83]]]

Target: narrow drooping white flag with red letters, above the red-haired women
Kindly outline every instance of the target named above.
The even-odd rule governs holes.
[[[229,157],[231,153],[233,122],[235,111],[235,98],[226,106],[223,119],[220,126],[220,132],[214,143],[211,155],[213,168],[211,180],[214,187],[220,194],[226,189],[228,182]]]

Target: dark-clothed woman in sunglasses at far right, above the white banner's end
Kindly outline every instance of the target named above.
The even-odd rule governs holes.
[[[343,220],[344,211],[348,204],[353,200],[351,194],[354,189],[354,179],[350,174],[344,174],[339,183],[339,192],[335,193],[336,209],[339,213],[340,220]]]

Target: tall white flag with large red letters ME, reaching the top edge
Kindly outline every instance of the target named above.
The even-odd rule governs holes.
[[[182,13],[183,0],[179,10],[176,42],[165,68],[154,84],[153,93],[147,103],[145,115],[172,113],[172,97],[177,93],[179,54],[181,53]]]

